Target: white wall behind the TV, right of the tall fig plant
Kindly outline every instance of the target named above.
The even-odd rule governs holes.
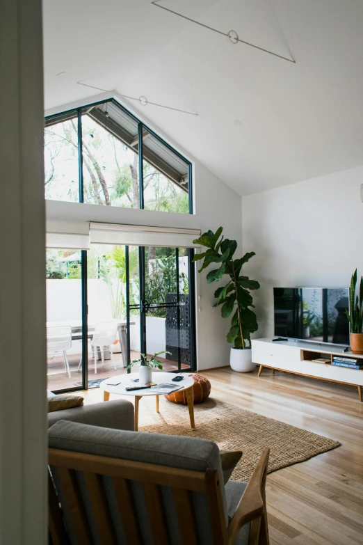
[[[255,292],[259,331],[273,335],[273,287],[348,287],[363,274],[363,166],[242,199],[245,271]]]

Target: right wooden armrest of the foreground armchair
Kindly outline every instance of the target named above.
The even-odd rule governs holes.
[[[236,511],[227,528],[228,544],[232,545],[239,533],[239,530],[246,523],[258,519],[264,513],[265,508],[265,482],[268,466],[269,448],[264,448],[261,457],[248,482]]]

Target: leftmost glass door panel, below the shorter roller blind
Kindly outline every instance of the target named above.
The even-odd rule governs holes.
[[[81,251],[47,250],[47,384],[49,390],[82,386]]]

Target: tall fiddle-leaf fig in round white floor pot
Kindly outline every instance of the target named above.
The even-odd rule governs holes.
[[[250,290],[258,290],[259,283],[250,280],[248,276],[241,276],[241,269],[243,264],[255,255],[255,252],[245,253],[243,258],[234,258],[237,243],[235,240],[224,239],[222,231],[222,227],[216,233],[209,230],[193,241],[207,248],[204,253],[196,254],[194,261],[204,259],[199,272],[212,263],[218,264],[218,269],[213,269],[207,274],[207,283],[219,282],[224,275],[229,276],[227,284],[218,287],[218,290],[214,292],[216,302],[213,306],[222,305],[220,310],[223,318],[229,318],[232,315],[231,329],[227,333],[227,341],[234,345],[229,359],[232,369],[248,372],[255,368],[250,350],[250,333],[258,329],[256,315],[251,310],[255,306]]]

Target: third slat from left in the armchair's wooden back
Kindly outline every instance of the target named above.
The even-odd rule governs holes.
[[[129,482],[121,477],[113,477],[112,482],[115,489],[115,496],[118,500],[118,508],[127,544],[140,545],[134,498],[131,494]]]

